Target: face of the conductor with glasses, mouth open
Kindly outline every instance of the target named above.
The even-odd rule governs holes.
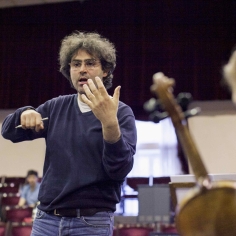
[[[70,63],[70,77],[74,88],[79,94],[85,94],[83,85],[87,84],[88,79],[92,79],[96,85],[96,76],[101,79],[107,76],[107,73],[102,70],[100,60],[84,50],[78,50]]]

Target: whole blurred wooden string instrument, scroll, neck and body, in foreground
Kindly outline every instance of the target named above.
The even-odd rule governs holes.
[[[236,236],[236,182],[211,181],[173,95],[175,81],[159,72],[151,91],[170,116],[196,185],[176,208],[175,223],[181,236]],[[236,124],[235,124],[236,125]]]

